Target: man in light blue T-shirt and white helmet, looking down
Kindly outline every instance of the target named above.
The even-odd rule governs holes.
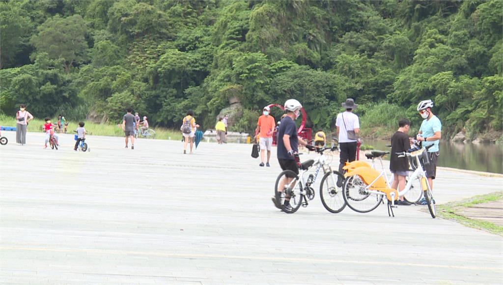
[[[440,155],[439,142],[442,137],[442,122],[433,114],[432,107],[432,100],[424,100],[417,104],[417,111],[424,119],[417,134],[417,140],[423,141],[423,148],[433,145],[428,150],[430,164],[425,165],[426,177],[428,177],[428,183],[433,190],[433,179],[437,174],[437,159]],[[426,204],[426,201],[423,203]]]

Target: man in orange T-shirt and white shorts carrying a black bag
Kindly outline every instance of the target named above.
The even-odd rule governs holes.
[[[271,150],[273,149],[273,134],[276,128],[276,122],[274,117],[269,115],[271,108],[269,106],[264,107],[263,115],[259,117],[259,122],[257,123],[257,129],[255,130],[255,137],[259,136],[260,145],[260,158],[262,162],[260,166],[266,165],[270,167],[269,161],[271,160]],[[267,162],[266,160],[266,150],[267,150]]]

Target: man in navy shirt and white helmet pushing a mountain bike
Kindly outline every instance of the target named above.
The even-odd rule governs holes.
[[[299,138],[295,119],[299,117],[302,105],[295,99],[289,99],[285,102],[286,116],[281,120],[278,130],[278,162],[283,170],[291,170],[299,174],[299,168],[295,161],[294,155],[299,151],[299,144],[306,146],[309,150],[314,150],[313,146],[309,146],[306,141]],[[280,182],[278,189],[284,189],[287,183],[292,181],[293,177],[285,177]],[[278,193],[280,194],[280,193]],[[281,205],[280,195],[273,197],[274,205],[279,209],[291,208],[290,197],[285,197],[284,204]]]

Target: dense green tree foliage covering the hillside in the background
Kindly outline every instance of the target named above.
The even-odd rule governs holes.
[[[0,1],[1,112],[174,127],[194,109],[211,127],[239,100],[250,130],[297,98],[328,128],[347,97],[414,123],[433,99],[450,132],[501,131],[502,19],[501,0]]]

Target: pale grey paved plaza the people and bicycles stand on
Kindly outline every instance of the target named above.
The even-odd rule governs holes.
[[[293,215],[270,197],[279,168],[249,145],[43,134],[0,146],[0,282],[33,284],[501,283],[503,239],[408,206],[388,218]],[[307,156],[306,156],[307,157]],[[337,160],[334,159],[334,160]],[[438,203],[501,190],[502,178],[438,171]],[[317,193],[318,194],[318,193]]]

